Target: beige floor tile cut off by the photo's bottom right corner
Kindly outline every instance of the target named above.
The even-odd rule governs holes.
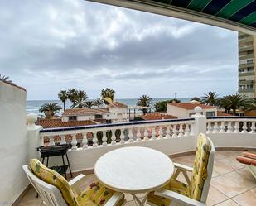
[[[243,206],[254,206],[256,205],[256,188],[251,189],[244,194],[239,194],[234,197],[233,200]]]

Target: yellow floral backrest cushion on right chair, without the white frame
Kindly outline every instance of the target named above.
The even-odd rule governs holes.
[[[204,134],[200,134],[196,144],[196,157],[194,161],[189,197],[200,200],[205,180],[207,179],[207,165],[210,155],[210,141]]]

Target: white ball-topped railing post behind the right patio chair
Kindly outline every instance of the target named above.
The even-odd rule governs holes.
[[[204,115],[201,115],[200,113],[203,111],[202,108],[200,108],[199,106],[196,106],[196,108],[194,109],[195,111],[195,115],[193,115],[192,117],[195,118],[195,124],[192,125],[192,133],[195,136],[195,145],[194,147],[196,148],[196,141],[197,141],[197,137],[200,133],[204,133],[206,134],[206,117]],[[209,124],[210,122],[208,122]]]

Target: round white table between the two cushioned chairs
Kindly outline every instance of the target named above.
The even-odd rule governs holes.
[[[171,180],[174,165],[161,151],[141,146],[123,147],[101,156],[94,166],[99,181],[110,189],[130,193],[139,204],[147,194]],[[135,194],[147,193],[140,201]]]

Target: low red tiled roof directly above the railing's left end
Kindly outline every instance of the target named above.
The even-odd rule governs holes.
[[[60,118],[55,118],[55,119],[39,119],[37,120],[36,124],[41,125],[44,128],[55,128],[55,127],[75,127],[75,126],[94,125],[94,124],[97,124],[97,122],[94,122],[91,120],[62,122]]]

